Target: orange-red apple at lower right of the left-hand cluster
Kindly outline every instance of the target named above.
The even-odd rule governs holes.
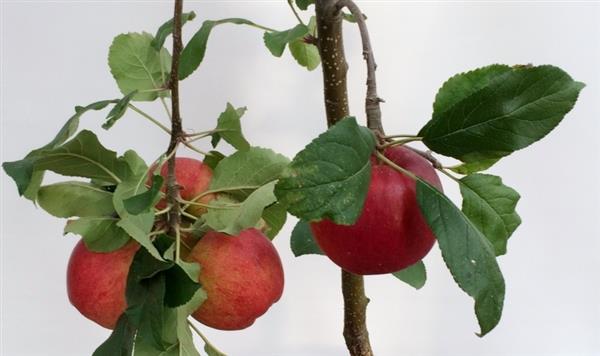
[[[283,293],[283,268],[275,247],[259,230],[237,236],[208,232],[187,257],[200,264],[208,299],[192,316],[220,330],[249,327]]]

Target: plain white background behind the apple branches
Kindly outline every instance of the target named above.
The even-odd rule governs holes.
[[[498,327],[475,336],[472,300],[434,248],[420,291],[389,275],[366,279],[376,354],[600,355],[599,4],[360,4],[369,17],[388,133],[415,133],[430,117],[439,86],[474,67],[552,63],[587,83],[555,132],[491,170],[521,193],[524,221],[499,259],[507,293]],[[188,1],[185,7],[199,15],[186,25],[186,39],[206,18],[295,25],[285,0]],[[169,1],[2,2],[2,161],[47,143],[74,105],[118,97],[106,64],[113,36],[154,33],[171,12]],[[351,109],[362,119],[364,64],[357,30],[345,27]],[[321,87],[320,68],[308,73],[287,50],[282,59],[273,57],[261,31],[223,25],[214,30],[200,70],[182,84],[184,126],[210,129],[227,101],[247,105],[249,140],[292,157],[325,128]],[[157,103],[141,106],[162,114]],[[107,147],[134,148],[147,161],[167,147],[168,138],[134,113],[110,132],[100,129],[103,115],[86,114],[82,126],[97,130]],[[65,269],[76,238],[62,237],[63,221],[20,199],[12,181],[0,177],[2,355],[91,354],[109,332],[67,300]],[[456,187],[445,183],[458,202]],[[294,223],[290,218],[275,242],[286,273],[282,300],[247,330],[202,328],[230,355],[346,354],[339,270],[323,257],[293,258]]]

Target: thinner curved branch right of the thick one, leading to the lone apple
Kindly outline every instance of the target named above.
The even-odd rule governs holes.
[[[373,48],[371,46],[371,39],[369,38],[369,30],[367,29],[367,23],[365,16],[363,15],[360,8],[352,0],[341,0],[337,7],[339,10],[346,7],[354,15],[358,28],[360,30],[360,37],[363,46],[363,57],[367,62],[367,97],[365,99],[365,112],[367,114],[367,126],[378,132],[380,135],[384,134],[383,125],[381,124],[381,107],[379,103],[383,100],[377,94],[377,78],[375,71],[377,70],[377,64],[375,63],[375,56],[373,55]]]

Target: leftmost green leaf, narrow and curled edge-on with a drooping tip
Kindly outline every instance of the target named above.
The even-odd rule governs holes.
[[[42,184],[43,172],[34,171],[33,165],[37,156],[44,150],[50,150],[63,144],[77,132],[79,127],[79,118],[89,110],[102,110],[115,100],[98,101],[88,106],[76,106],[75,114],[71,116],[63,127],[58,131],[52,141],[45,146],[35,149],[27,154],[25,158],[19,161],[4,162],[2,168],[17,184],[19,195],[24,195],[29,200],[35,200],[37,191]]]

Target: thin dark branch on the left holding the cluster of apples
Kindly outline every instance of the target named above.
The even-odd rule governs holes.
[[[171,62],[171,76],[168,88],[171,90],[171,141],[167,149],[167,204],[171,208],[168,212],[168,233],[177,237],[175,244],[179,251],[179,225],[181,223],[181,206],[179,204],[179,186],[175,178],[175,158],[179,143],[183,142],[184,132],[179,113],[179,57],[183,48],[181,40],[181,13],[183,0],[175,0],[175,13],[173,15],[173,54]],[[179,255],[177,255],[179,257]]]

